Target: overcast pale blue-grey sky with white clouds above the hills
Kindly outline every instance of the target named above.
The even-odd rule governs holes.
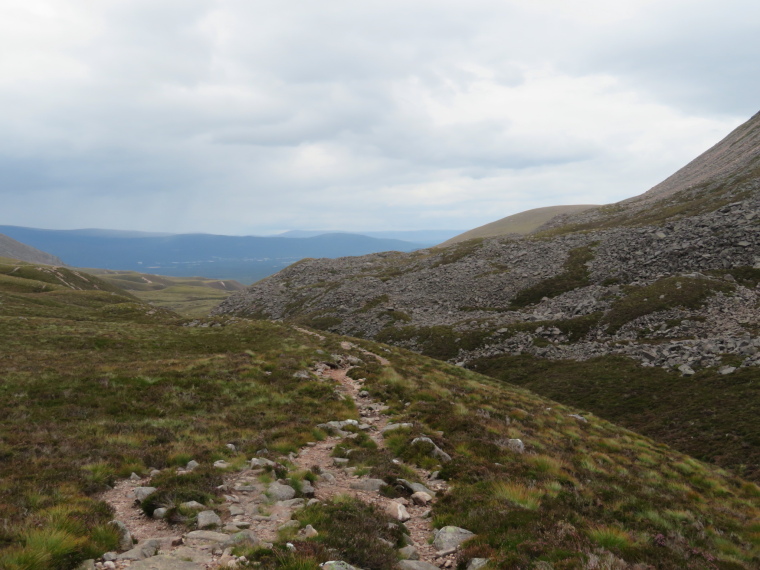
[[[757,0],[0,0],[0,224],[466,230],[760,110]]]

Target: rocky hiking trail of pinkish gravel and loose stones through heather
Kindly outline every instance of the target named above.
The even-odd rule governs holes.
[[[296,328],[296,327],[294,327]],[[324,338],[321,335],[297,328],[299,332]],[[374,358],[383,365],[389,362],[374,353],[356,345],[343,342],[341,348],[347,353],[359,352],[366,358]],[[333,451],[346,438],[356,438],[359,432],[366,433],[379,449],[385,448],[383,434],[410,424],[389,424],[384,413],[387,407],[373,401],[363,389],[363,379],[351,377],[351,369],[361,363],[356,356],[333,355],[333,363],[320,363],[313,371],[321,381],[332,381],[335,390],[343,398],[352,399],[361,420],[334,420],[320,424],[321,429],[334,435],[323,441],[309,442],[297,454],[291,453],[283,462],[293,465],[294,471],[319,473],[312,484],[304,480],[301,486],[303,497],[296,498],[296,490],[280,479],[263,483],[259,476],[281,464],[262,456],[247,463],[243,471],[229,473],[224,478],[224,504],[209,510],[203,505],[194,505],[198,511],[198,530],[184,531],[181,527],[171,527],[164,520],[149,518],[139,507],[138,500],[151,493],[150,478],[132,478],[119,481],[113,489],[102,495],[115,511],[115,521],[122,532],[121,553],[106,553],[99,561],[88,561],[82,568],[132,570],[207,570],[212,568],[238,568],[246,565],[244,557],[232,554],[235,546],[271,546],[278,540],[284,529],[292,529],[299,539],[318,536],[319,529],[310,525],[300,528],[293,520],[293,514],[304,506],[315,502],[327,502],[338,496],[350,496],[364,503],[376,506],[403,523],[408,530],[407,546],[399,551],[399,567],[402,570],[436,570],[453,568],[456,565],[456,551],[461,542],[472,533],[457,527],[446,527],[434,531],[431,523],[431,506],[436,492],[445,491],[446,483],[435,478],[435,473],[413,468],[417,478],[425,485],[399,479],[410,498],[391,499],[380,494],[383,480],[358,477],[355,467],[347,467],[348,459],[334,457]],[[348,427],[352,426],[352,427]],[[347,428],[352,431],[344,431]],[[427,440],[427,438],[423,438]],[[432,442],[430,442],[432,443]],[[446,454],[434,446],[434,453]],[[398,460],[394,460],[397,462]],[[194,468],[194,462],[188,469]],[[224,462],[217,462],[225,467]],[[192,508],[193,505],[185,505]],[[160,512],[159,512],[160,516]],[[475,570],[485,560],[475,559],[468,568]],[[345,562],[325,563],[323,567],[346,570],[351,566]]]

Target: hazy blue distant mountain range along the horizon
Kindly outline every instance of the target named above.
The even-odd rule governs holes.
[[[75,267],[235,279],[242,283],[258,281],[309,257],[409,252],[425,247],[423,243],[348,233],[257,237],[99,229],[46,230],[19,226],[0,226],[0,232],[32,248],[50,252]]]

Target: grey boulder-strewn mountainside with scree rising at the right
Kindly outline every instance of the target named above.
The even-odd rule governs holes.
[[[594,377],[598,359],[621,357],[678,377],[751,382],[760,372],[758,165],[755,115],[635,199],[560,216],[524,237],[305,260],[215,312],[300,322],[461,366],[520,355],[589,363],[578,382]],[[745,401],[756,413],[753,394]],[[656,395],[646,398],[656,408]],[[705,457],[738,465],[750,445],[754,463],[741,468],[759,476],[752,426],[727,425],[733,459],[712,444]]]

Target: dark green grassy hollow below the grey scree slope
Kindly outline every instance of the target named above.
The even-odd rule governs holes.
[[[550,361],[527,355],[481,359],[470,367],[760,480],[760,383],[753,368],[725,376],[699,370],[684,378],[625,357]]]

